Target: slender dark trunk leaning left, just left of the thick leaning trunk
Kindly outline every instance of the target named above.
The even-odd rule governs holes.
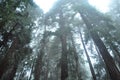
[[[97,80],[96,75],[95,75],[95,71],[93,69],[93,66],[92,66],[92,63],[91,63],[91,60],[90,60],[90,57],[88,55],[87,49],[86,49],[85,44],[84,44],[84,40],[83,40],[82,33],[81,33],[80,29],[79,29],[79,33],[80,33],[80,38],[81,38],[81,41],[82,41],[82,45],[83,45],[83,48],[85,50],[85,54],[87,56],[87,60],[88,60],[89,66],[90,66],[90,71],[92,73],[93,80]]]

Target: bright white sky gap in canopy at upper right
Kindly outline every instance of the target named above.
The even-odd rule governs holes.
[[[88,1],[100,12],[106,13],[109,11],[110,0],[88,0]]]

